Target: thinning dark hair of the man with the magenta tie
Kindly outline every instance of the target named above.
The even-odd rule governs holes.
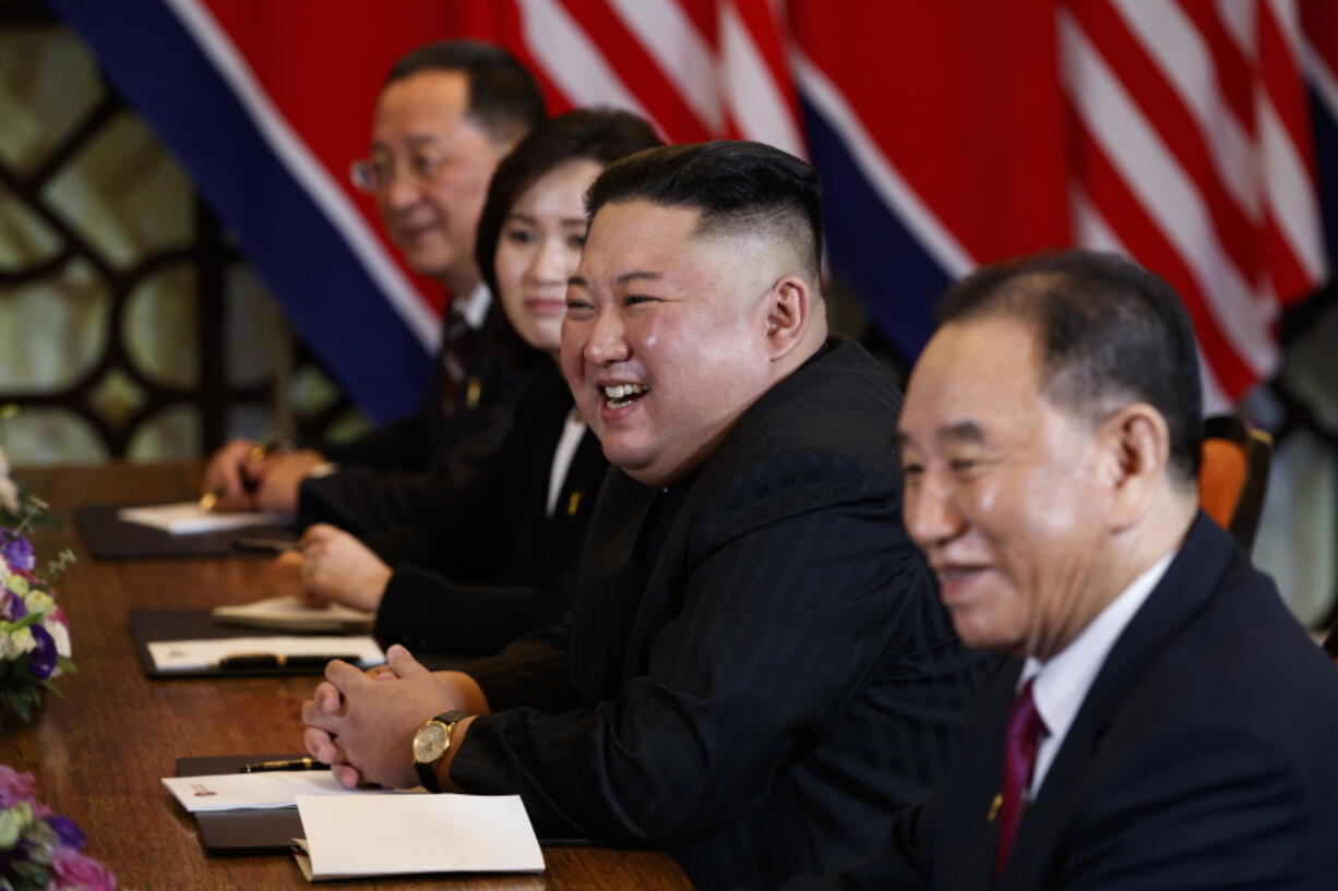
[[[1034,325],[1041,387],[1068,411],[1111,397],[1145,401],[1165,419],[1171,467],[1198,478],[1203,388],[1193,326],[1164,280],[1119,254],[1069,250],[985,266],[947,290],[941,324],[1005,316]]]

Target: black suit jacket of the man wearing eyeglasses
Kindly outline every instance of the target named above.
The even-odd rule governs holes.
[[[448,320],[442,320],[443,334]],[[438,369],[442,361],[439,353]],[[520,395],[546,364],[550,360],[520,341],[500,301],[492,300],[483,326],[472,334],[464,368],[468,384],[454,408],[444,408],[438,371],[415,415],[351,443],[321,446],[340,468],[301,484],[300,524],[333,523],[361,535],[420,520],[431,510],[434,491],[467,486],[482,471],[511,429]]]

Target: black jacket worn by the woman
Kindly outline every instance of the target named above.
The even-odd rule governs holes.
[[[571,606],[575,563],[609,463],[586,429],[547,515],[553,455],[571,411],[553,361],[538,373],[496,454],[463,490],[440,480],[421,523],[365,540],[393,570],[376,637],[412,650],[495,653]]]

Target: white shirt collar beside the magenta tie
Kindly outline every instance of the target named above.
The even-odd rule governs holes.
[[[1022,666],[1022,674],[1018,677],[1018,689],[1029,678],[1036,677],[1036,684],[1032,685],[1032,698],[1050,737],[1062,738],[1068,733],[1073,718],[1077,717],[1078,709],[1082,706],[1082,700],[1092,689],[1097,672],[1101,670],[1105,657],[1111,653],[1111,648],[1115,646],[1139,607],[1152,594],[1152,589],[1161,581],[1173,557],[1175,551],[1171,551],[1143,570],[1128,587],[1120,591],[1119,597],[1097,613],[1097,617],[1068,646],[1050,657],[1049,661],[1041,662],[1034,656],[1028,657],[1026,665]]]

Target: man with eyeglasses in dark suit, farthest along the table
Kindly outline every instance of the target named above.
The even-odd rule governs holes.
[[[376,197],[387,231],[417,273],[451,293],[438,376],[420,411],[341,446],[264,454],[233,440],[203,491],[217,510],[293,512],[351,531],[397,526],[423,510],[424,471],[466,479],[500,441],[527,375],[499,356],[504,325],[474,264],[474,234],[498,162],[545,116],[534,78],[475,40],[419,47],[391,68],[353,183]]]

